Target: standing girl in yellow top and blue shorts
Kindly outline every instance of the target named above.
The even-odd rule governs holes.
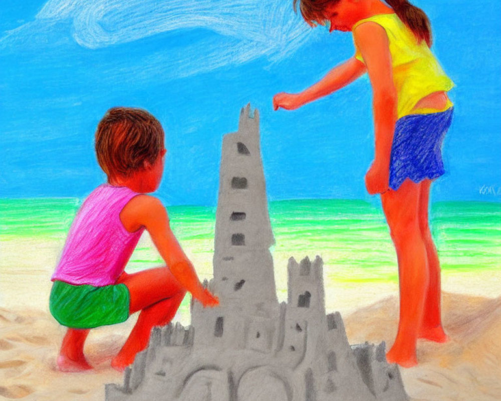
[[[294,0],[294,8],[298,0]],[[301,93],[279,93],[275,110],[296,109],[368,72],[373,91],[375,156],[365,176],[380,193],[395,245],[400,281],[400,319],[386,357],[417,363],[416,342],[445,342],[440,316],[440,266],[428,226],[434,178],[444,173],[440,146],[452,117],[452,81],[430,51],[424,12],[406,0],[299,0],[310,26],[330,24],[352,32],[355,55]]]

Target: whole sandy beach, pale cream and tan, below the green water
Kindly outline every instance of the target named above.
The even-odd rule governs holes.
[[[148,238],[141,241],[151,248]],[[136,317],[91,330],[85,353],[93,370],[57,371],[56,357],[65,328],[48,310],[49,277],[63,242],[28,238],[2,241],[0,246],[0,399],[104,400],[105,383],[123,382],[110,361]],[[207,255],[211,256],[188,252],[202,278],[212,272]],[[280,301],[287,297],[289,255],[274,254]],[[336,260],[339,255],[322,257]],[[351,344],[385,341],[389,349],[398,324],[398,284],[373,277],[360,268],[324,266],[326,309],[341,312]],[[407,393],[416,401],[501,399],[501,275],[497,268],[445,269],[442,288],[443,322],[450,341],[419,342],[419,364],[400,369]],[[186,302],[183,304],[174,320],[186,325],[189,312]]]

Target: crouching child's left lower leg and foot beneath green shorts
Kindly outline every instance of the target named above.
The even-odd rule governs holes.
[[[84,356],[84,342],[90,329],[69,328],[64,336],[57,364],[63,372],[79,372],[92,369]]]

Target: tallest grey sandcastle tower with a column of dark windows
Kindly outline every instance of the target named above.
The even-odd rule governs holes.
[[[271,352],[279,304],[274,244],[260,150],[259,112],[241,109],[238,131],[224,135],[214,239],[214,309],[192,306],[195,345]],[[203,316],[203,318],[202,318]],[[205,322],[200,324],[199,322]],[[207,324],[209,322],[209,324]]]

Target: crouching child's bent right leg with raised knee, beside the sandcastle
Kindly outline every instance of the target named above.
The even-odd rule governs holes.
[[[134,362],[136,354],[148,345],[151,329],[169,323],[186,294],[165,267],[130,274],[120,282],[130,292],[130,313],[139,310],[141,313],[129,338],[111,362],[117,370],[123,370]]]

